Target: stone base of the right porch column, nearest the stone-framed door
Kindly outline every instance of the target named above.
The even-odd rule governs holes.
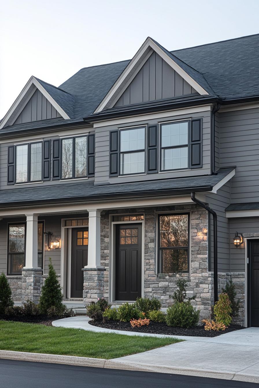
[[[83,302],[97,302],[104,295],[104,267],[82,268],[83,271]]]

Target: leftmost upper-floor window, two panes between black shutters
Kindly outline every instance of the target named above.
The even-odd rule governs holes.
[[[41,180],[42,143],[16,145],[16,183]]]

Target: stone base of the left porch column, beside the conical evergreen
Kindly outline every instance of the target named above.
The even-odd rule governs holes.
[[[22,301],[37,303],[43,284],[43,270],[36,268],[23,268],[22,270]]]

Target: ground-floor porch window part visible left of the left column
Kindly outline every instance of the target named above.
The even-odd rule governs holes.
[[[8,275],[21,275],[25,266],[25,231],[25,223],[8,225]]]

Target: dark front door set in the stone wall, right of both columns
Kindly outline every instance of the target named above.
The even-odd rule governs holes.
[[[141,239],[141,224],[116,225],[116,300],[141,296]]]

